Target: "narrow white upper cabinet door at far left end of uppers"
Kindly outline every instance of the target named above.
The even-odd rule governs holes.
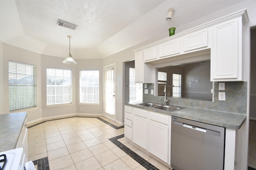
[[[143,82],[144,62],[142,51],[135,53],[135,82]]]

